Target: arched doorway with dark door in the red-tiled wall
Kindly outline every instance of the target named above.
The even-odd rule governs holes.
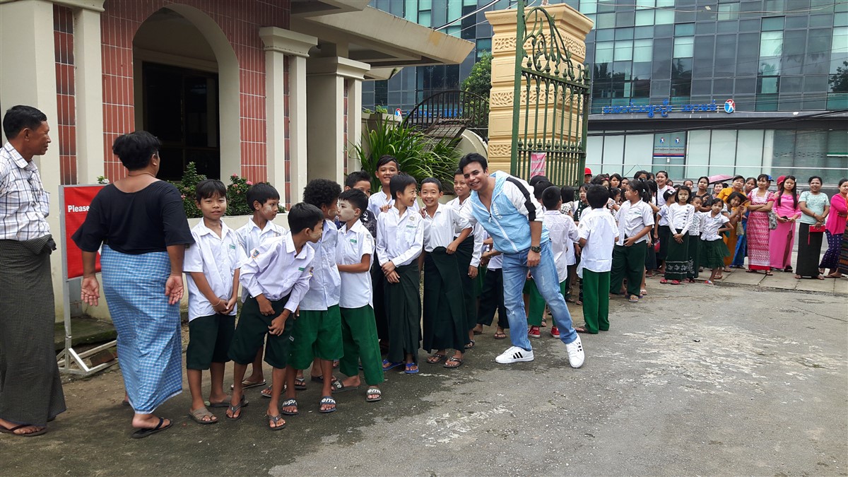
[[[177,180],[190,162],[211,178],[239,172],[238,65],[215,21],[169,5],[132,47],[136,124],[162,141],[159,177]]]

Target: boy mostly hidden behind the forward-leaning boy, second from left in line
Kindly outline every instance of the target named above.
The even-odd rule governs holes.
[[[254,211],[252,217],[248,217],[248,223],[236,230],[238,241],[242,244],[245,258],[250,256],[259,245],[266,240],[282,237],[286,229],[276,225],[274,219],[280,211],[280,193],[271,184],[259,182],[248,188],[248,206]],[[242,302],[248,297],[242,295]],[[256,352],[256,358],[251,366],[250,375],[242,383],[243,389],[265,385],[265,373],[262,372],[262,352],[265,346]],[[232,387],[230,388],[232,389]],[[263,396],[271,396],[271,386],[263,391]]]

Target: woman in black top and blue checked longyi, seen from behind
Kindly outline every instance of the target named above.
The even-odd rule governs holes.
[[[135,411],[133,438],[169,428],[170,419],[153,411],[182,390],[182,259],[194,240],[180,193],[156,178],[159,147],[159,139],[144,131],[115,139],[112,151],[126,177],[94,197],[73,236],[82,250],[82,300],[92,306],[100,296],[95,262],[102,245],[103,293]]]

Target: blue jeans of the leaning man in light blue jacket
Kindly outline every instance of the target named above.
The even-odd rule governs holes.
[[[537,267],[529,269],[536,282],[539,294],[548,304],[554,323],[560,328],[560,340],[570,344],[577,340],[577,332],[572,327],[572,315],[568,312],[566,299],[560,294],[560,279],[556,275],[554,253],[550,250],[550,241],[542,244],[542,253]],[[522,289],[527,280],[527,250],[517,254],[504,254],[504,305],[506,317],[510,322],[510,340],[513,346],[526,351],[533,350],[527,338],[527,316],[524,314]]]

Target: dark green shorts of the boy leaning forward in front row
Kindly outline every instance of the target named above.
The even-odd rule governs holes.
[[[290,315],[286,320],[286,328],[276,336],[268,333],[271,320],[279,317],[286,307],[288,296],[281,300],[271,301],[274,314],[265,316],[259,312],[259,303],[254,297],[248,297],[242,306],[242,315],[238,318],[236,333],[230,345],[230,359],[238,364],[250,364],[256,358],[256,352],[267,340],[265,345],[265,362],[273,368],[286,368],[288,353],[292,346],[292,332],[297,320]],[[266,338],[267,337],[267,338]]]

